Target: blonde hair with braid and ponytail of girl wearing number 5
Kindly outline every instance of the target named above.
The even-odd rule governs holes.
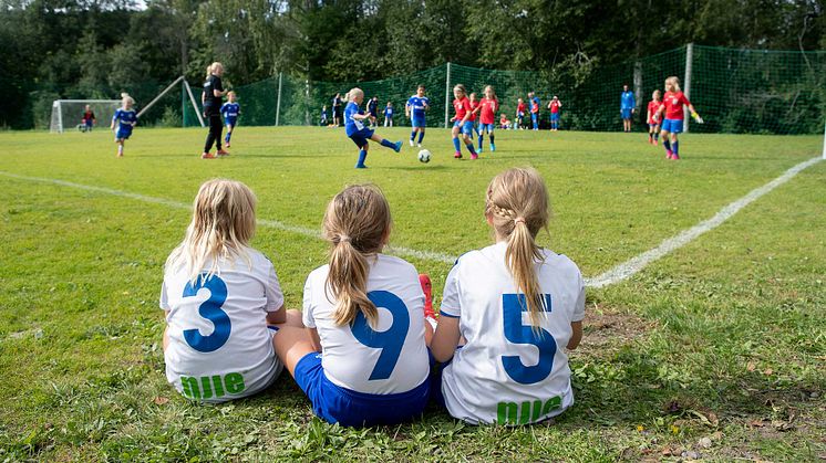
[[[537,328],[540,312],[548,307],[535,269],[545,257],[535,239],[540,229],[547,230],[550,215],[548,190],[539,172],[513,168],[494,177],[487,187],[485,215],[492,219],[496,234],[507,239],[505,262]]]

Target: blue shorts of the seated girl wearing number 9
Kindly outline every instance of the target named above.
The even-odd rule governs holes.
[[[296,382],[312,402],[312,411],[344,427],[397,424],[420,417],[430,399],[430,378],[407,392],[374,394],[333,385],[321,367],[321,354],[310,352],[296,365]]]

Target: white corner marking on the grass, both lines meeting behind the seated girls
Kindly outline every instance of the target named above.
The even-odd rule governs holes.
[[[729,220],[732,215],[740,212],[741,209],[745,208],[753,201],[760,199],[762,196],[774,190],[781,185],[787,182],[794,176],[799,173],[802,170],[806,169],[807,167],[814,166],[820,160],[823,159],[813,158],[805,162],[798,164],[797,166],[786,170],[782,176],[777,177],[776,179],[770,181],[768,183],[760,188],[755,188],[754,190],[748,192],[748,194],[727,204],[711,219],[704,220],[698,223],[696,225],[680,232],[675,236],[664,240],[662,243],[660,243],[659,246],[651,249],[649,251],[646,251],[642,254],[637,255],[636,257],[632,257],[598,276],[595,276],[592,278],[585,278],[586,285],[590,287],[603,287],[603,286],[612,285],[615,283],[619,283],[623,280],[627,280],[633,276],[634,274],[639,273],[642,269],[644,269],[648,264],[684,246],[685,244],[690,243],[691,241],[693,241],[701,234],[717,228],[720,224]],[[183,202],[172,201],[172,200],[164,199],[164,198],[155,198],[155,197],[149,197],[149,196],[144,196],[144,194],[131,193],[128,191],[114,190],[114,189],[105,188],[105,187],[94,187],[90,185],[74,183],[71,181],[50,179],[50,178],[43,178],[43,177],[28,177],[28,176],[21,176],[18,173],[4,172],[1,170],[0,170],[0,175],[9,177],[9,178],[19,179],[19,180],[59,185],[63,187],[76,188],[80,190],[95,191],[95,192],[117,196],[122,198],[135,199],[135,200],[143,201],[143,202],[164,204],[164,206],[168,206],[175,209],[192,210],[192,207],[189,204],[186,204]],[[318,230],[309,229],[306,227],[290,225],[288,223],[279,222],[277,220],[259,219],[258,223],[264,227],[283,230],[283,231],[300,234],[303,236],[310,236],[310,238],[316,238],[316,239],[321,238],[321,233]],[[390,246],[390,251],[393,254],[401,255],[401,256],[416,257],[416,259],[442,262],[442,263],[453,263],[456,260],[455,256],[447,255],[441,252],[420,251],[420,250],[409,249],[404,246]]]

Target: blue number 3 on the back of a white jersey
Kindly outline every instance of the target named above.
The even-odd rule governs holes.
[[[203,273],[198,275],[198,280],[195,281],[194,286],[192,282],[188,282],[186,287],[184,287],[184,297],[194,297],[202,287],[209,290],[209,298],[200,304],[198,314],[211,322],[215,325],[215,329],[209,336],[202,336],[197,329],[185,329],[184,339],[197,351],[211,352],[220,349],[227,343],[233,324],[229,322],[229,315],[220,308],[224,302],[227,301],[226,283],[216,275],[213,275],[206,282],[204,281],[205,278],[206,273]]]

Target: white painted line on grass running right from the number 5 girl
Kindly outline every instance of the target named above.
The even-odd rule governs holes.
[[[630,260],[615,266],[613,269],[602,273],[601,275],[595,276],[592,278],[585,278],[586,284],[591,287],[602,287],[602,286],[612,285],[615,283],[619,283],[623,280],[631,277],[632,275],[634,275],[636,273],[644,269],[648,264],[659,260],[660,257],[671,253],[672,251],[677,251],[678,249],[684,246],[685,244],[689,244],[690,242],[692,242],[695,238],[700,236],[701,234],[708,231],[714,230],[720,224],[729,220],[732,215],[740,212],[741,209],[751,204],[753,201],[757,200],[763,194],[787,182],[794,176],[799,173],[803,169],[809,166],[814,166],[820,160],[822,160],[820,158],[813,158],[805,162],[798,164],[797,166],[786,170],[782,176],[777,177],[776,179],[770,181],[768,183],[760,188],[755,188],[754,190],[748,192],[748,194],[724,207],[723,209],[720,210],[720,212],[714,214],[714,217],[712,217],[711,219],[704,220],[688,230],[683,230],[675,236],[669,238],[668,240],[660,243],[659,246],[652,250],[646,251],[636,257],[631,257]]]

